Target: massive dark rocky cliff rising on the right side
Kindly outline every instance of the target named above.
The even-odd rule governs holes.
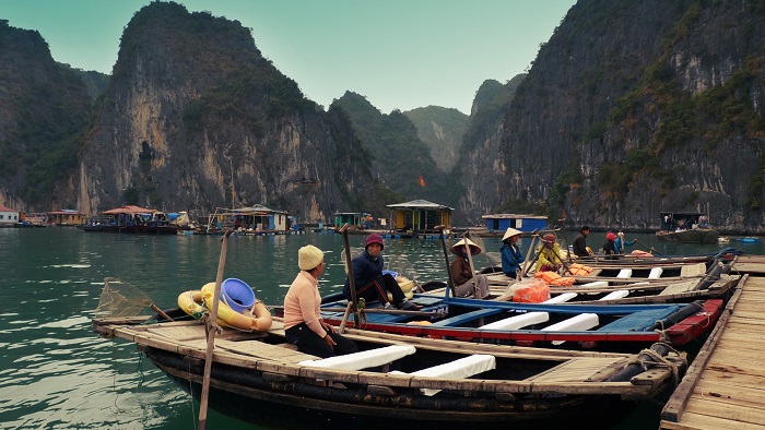
[[[576,226],[656,228],[659,211],[708,203],[717,227],[762,231],[764,8],[578,2],[494,129],[503,163],[476,156],[496,193],[466,204],[522,200]]]

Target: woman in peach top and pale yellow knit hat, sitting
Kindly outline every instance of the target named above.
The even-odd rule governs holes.
[[[297,251],[301,273],[284,296],[284,334],[297,350],[327,358],[356,353],[356,344],[323,322],[319,312],[319,276],[325,272],[320,249],[307,244]]]

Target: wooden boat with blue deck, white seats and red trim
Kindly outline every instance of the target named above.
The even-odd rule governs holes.
[[[377,302],[366,303],[357,326],[409,336],[637,351],[659,341],[682,348],[711,330],[725,306],[722,299],[662,304],[561,303],[563,299],[518,303],[414,295],[422,311],[386,312]],[[325,321],[341,323],[346,303],[344,298],[322,300]]]

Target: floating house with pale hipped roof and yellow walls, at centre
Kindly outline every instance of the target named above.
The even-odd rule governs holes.
[[[451,228],[452,207],[431,203],[426,200],[413,200],[407,203],[389,204],[390,229],[412,234],[437,232],[435,227],[443,225]]]

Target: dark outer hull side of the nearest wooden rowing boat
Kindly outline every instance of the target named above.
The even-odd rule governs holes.
[[[151,347],[144,348],[144,353],[179,387],[200,398],[203,360],[190,361],[183,355]],[[274,425],[283,427],[285,417],[290,417],[298,421],[292,425],[301,425],[299,419],[305,419],[305,425],[314,423],[311,427],[315,427],[317,419],[342,419],[340,422],[357,423],[353,428],[395,426],[399,429],[421,429],[438,423],[439,429],[460,430],[475,422],[481,422],[482,429],[506,429],[507,422],[533,422],[534,428],[560,429],[572,419],[586,420],[595,414],[599,422],[597,426],[593,423],[595,427],[588,425],[588,428],[601,425],[607,428],[600,421],[613,423],[632,408],[632,404],[617,395],[517,395],[516,399],[510,399],[514,396],[492,393],[466,401],[464,395],[457,394],[451,398],[409,393],[372,394],[367,386],[354,387],[350,383],[345,383],[343,389],[333,390],[298,379],[274,381],[271,378],[268,372],[255,369],[245,371],[215,363],[210,377],[210,406],[225,415],[261,426],[273,420]],[[262,407],[254,407],[254,403],[260,403]],[[603,416],[604,407],[609,416]],[[306,410],[310,413],[306,414]],[[505,427],[501,427],[503,425]]]

